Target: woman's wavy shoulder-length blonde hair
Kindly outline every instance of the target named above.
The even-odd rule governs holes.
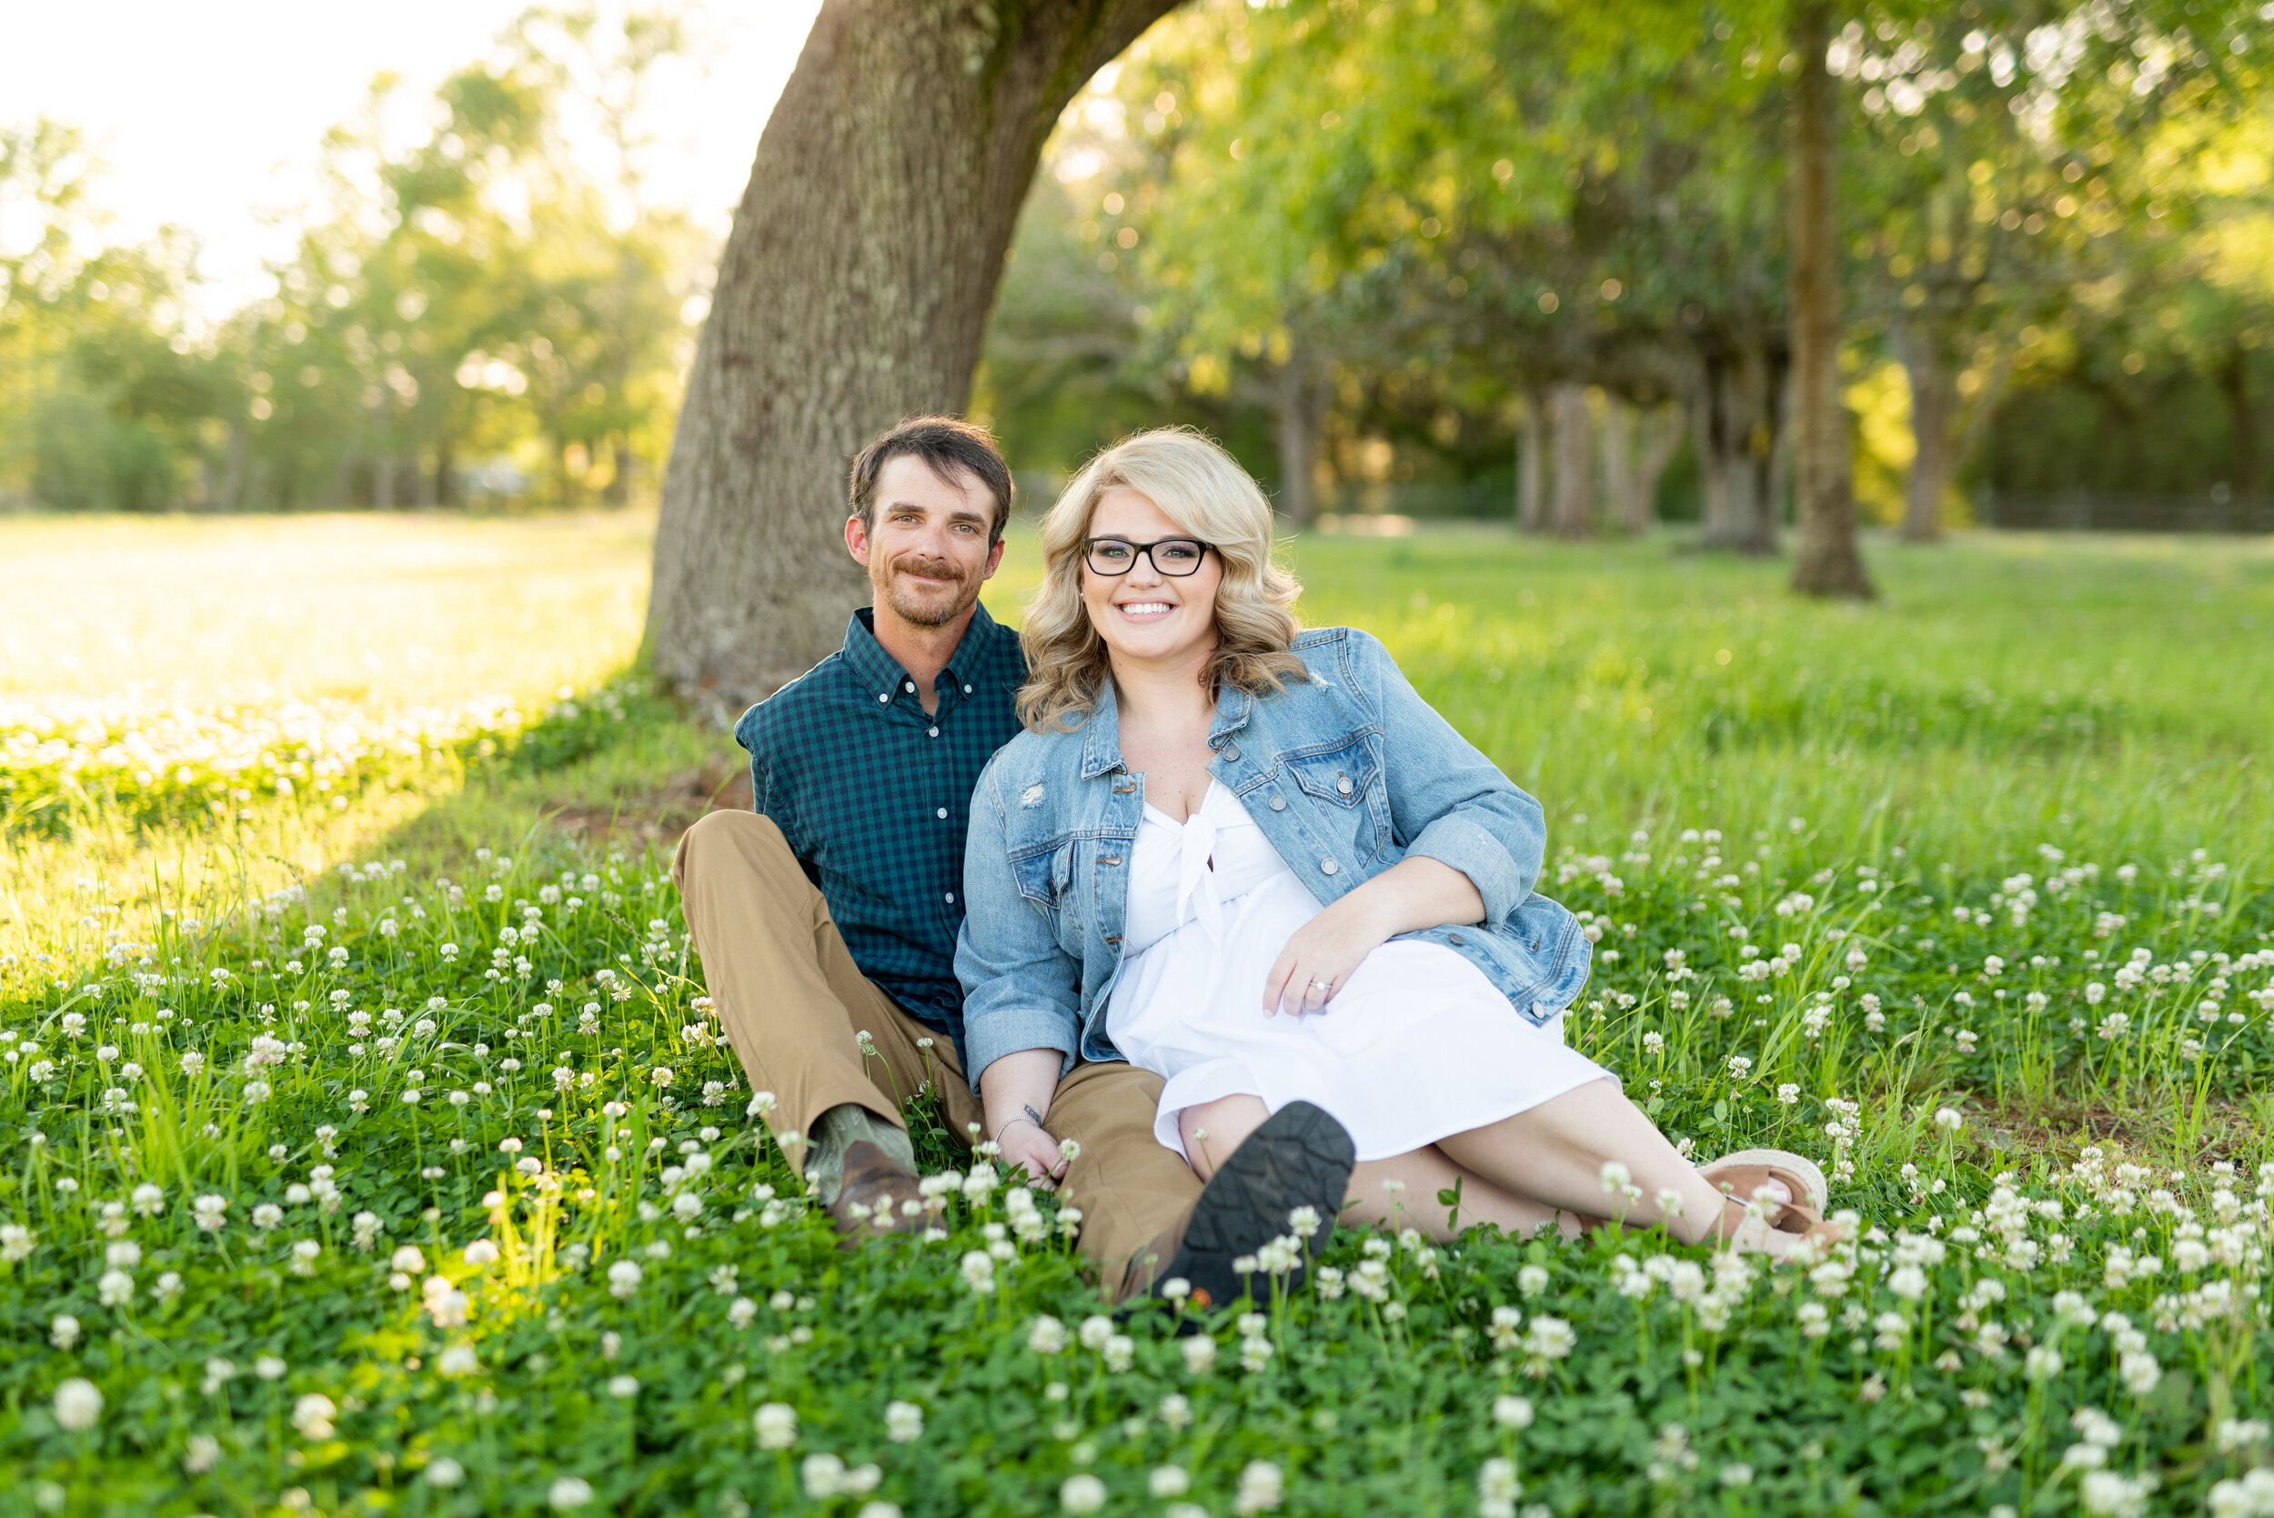
[[[1019,634],[1028,664],[1019,720],[1028,729],[1073,727],[1112,675],[1105,641],[1082,607],[1082,539],[1098,498],[1112,489],[1137,491],[1223,561],[1217,652],[1201,675],[1210,698],[1223,686],[1269,695],[1285,679],[1308,677],[1292,652],[1301,632],[1294,598],[1303,586],[1271,561],[1271,502],[1262,489],[1192,427],[1132,432],[1092,459],[1041,523],[1041,589]]]

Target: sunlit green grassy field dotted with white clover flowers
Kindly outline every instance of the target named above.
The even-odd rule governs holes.
[[[1342,1232],[1180,1323],[937,1134],[941,1238],[830,1248],[644,532],[0,523],[0,1511],[2274,1513],[2274,545],[1298,543],[1546,802],[1576,1041],[1865,1232]]]

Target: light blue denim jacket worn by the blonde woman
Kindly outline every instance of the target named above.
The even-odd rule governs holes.
[[[1592,945],[1565,907],[1533,893],[1546,852],[1539,802],[1414,693],[1378,639],[1317,627],[1294,652],[1308,682],[1217,700],[1207,773],[1319,902],[1410,854],[1453,866],[1485,898],[1483,927],[1403,936],[1462,954],[1533,1023],[1569,1007]],[[1105,1007],[1142,816],[1144,775],[1121,761],[1110,682],[1078,727],[1021,732],[980,773],[955,939],[973,1091],[1019,1050],[1060,1050],[1062,1073],[1076,1057],[1121,1059]]]

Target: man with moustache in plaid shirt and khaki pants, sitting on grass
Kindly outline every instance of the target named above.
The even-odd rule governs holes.
[[[955,932],[971,789],[1019,729],[1026,679],[1016,634],[978,600],[1010,493],[994,441],[962,420],[912,418],[860,452],[846,550],[873,607],[735,725],[755,816],[705,816],[673,866],[750,1089],[775,1093],[769,1123],[848,1238],[923,1227],[901,1100],[932,1086],[957,1134],[982,1116]],[[1048,1138],[1019,1134],[1019,1152],[1080,1209],[1107,1293],[1182,1277],[1201,1302],[1228,1298],[1233,1259],[1285,1234],[1289,1211],[1335,1216],[1351,1145],[1333,1118],[1276,1114],[1203,1191],[1153,1138],[1157,1098],[1160,1077],[1085,1061],[1014,1118]]]

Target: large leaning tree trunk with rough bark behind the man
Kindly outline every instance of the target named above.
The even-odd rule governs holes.
[[[646,657],[735,709],[844,639],[846,464],[960,411],[1060,109],[1176,0],[828,0],[719,261],[655,534]]]

